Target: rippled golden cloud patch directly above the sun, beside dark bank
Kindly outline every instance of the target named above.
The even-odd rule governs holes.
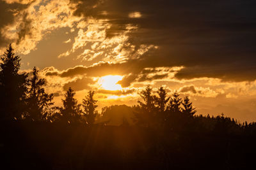
[[[124,25],[125,29],[115,36],[108,37],[108,29],[112,26],[106,20],[87,19],[77,24],[77,36],[74,38],[72,48],[61,53],[60,57],[67,57],[77,50],[83,52],[77,55],[77,59],[92,61],[102,60],[111,62],[124,62],[128,59],[137,59],[146,53],[153,45],[140,45],[135,48],[129,43],[129,32],[136,29],[132,25]]]

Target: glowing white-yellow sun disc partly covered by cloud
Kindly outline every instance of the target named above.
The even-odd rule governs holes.
[[[122,80],[123,76],[118,75],[108,75],[100,78],[100,86],[105,90],[122,90],[122,86],[116,84],[118,81]]]

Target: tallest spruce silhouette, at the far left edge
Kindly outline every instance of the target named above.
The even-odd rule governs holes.
[[[19,74],[19,69],[20,57],[15,55],[12,45],[9,45],[1,57],[0,64],[0,118],[2,120],[20,119],[24,113],[28,74]]]

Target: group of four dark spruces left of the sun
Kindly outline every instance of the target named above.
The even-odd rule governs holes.
[[[54,106],[53,94],[44,89],[45,79],[39,78],[38,69],[33,68],[31,78],[28,73],[19,73],[20,58],[8,46],[0,63],[0,120],[32,122],[64,122],[92,125],[95,121],[97,105],[94,92],[88,92],[83,104],[78,104],[71,88],[65,93],[63,106]]]

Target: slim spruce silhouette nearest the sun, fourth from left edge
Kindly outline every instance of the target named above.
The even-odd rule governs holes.
[[[93,95],[94,92],[90,91],[88,92],[88,95],[85,96],[85,99],[83,99],[83,108],[88,125],[92,125],[95,122],[95,117],[97,115],[97,111],[95,110],[95,108],[97,108],[97,101],[93,99]]]

